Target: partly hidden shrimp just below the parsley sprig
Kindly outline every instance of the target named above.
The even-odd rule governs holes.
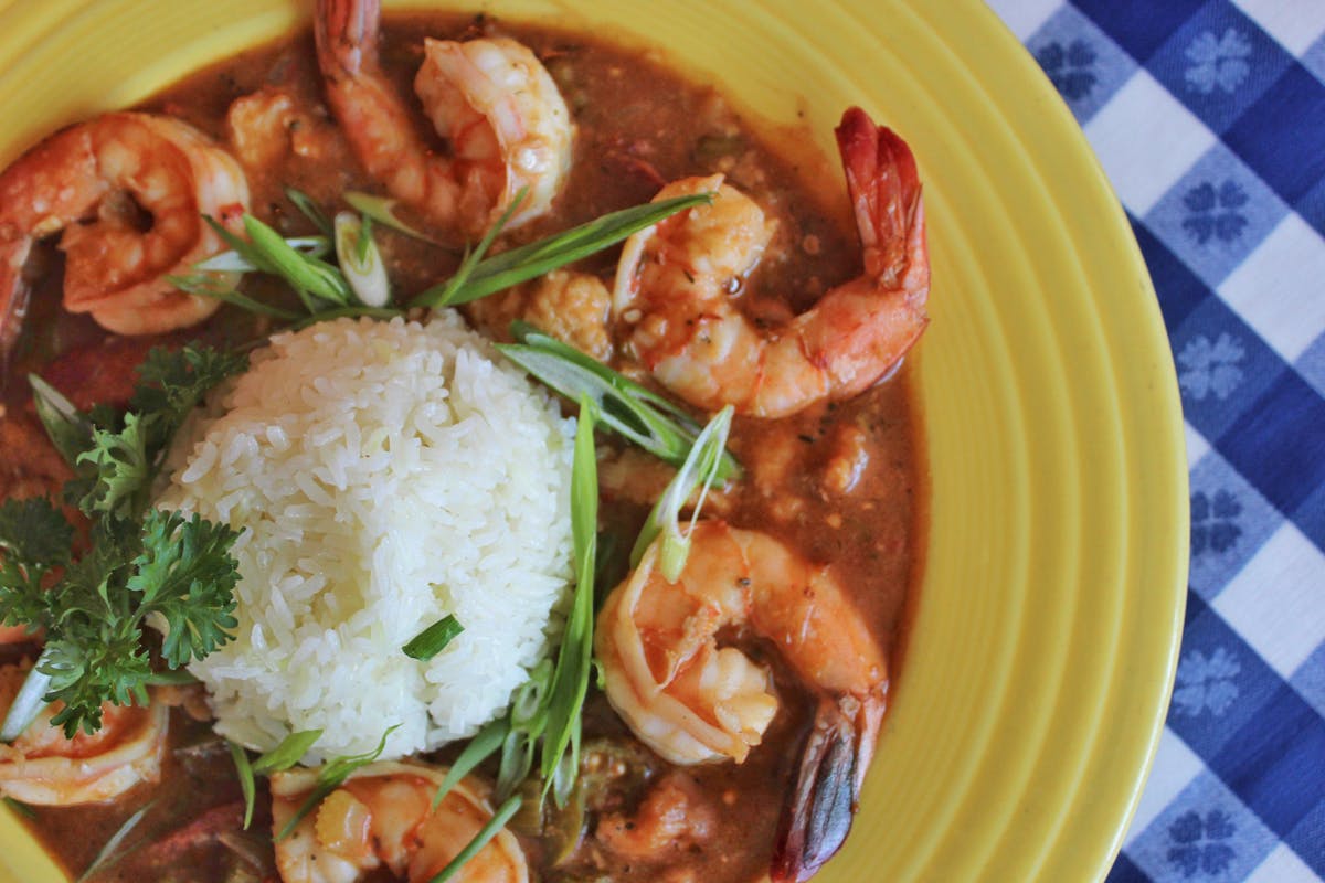
[[[0,669],[0,707],[8,711],[26,670]],[[109,801],[139,782],[160,778],[166,753],[167,708],[102,707],[95,733],[66,739],[52,727],[57,708],[46,708],[12,744],[0,744],[0,794],[24,804],[72,806]]]

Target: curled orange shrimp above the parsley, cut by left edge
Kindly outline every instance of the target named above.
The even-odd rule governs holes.
[[[66,310],[158,334],[216,311],[166,277],[225,248],[203,214],[233,226],[246,205],[238,163],[178,119],[106,114],[52,135],[0,173],[0,359],[26,312],[36,240],[62,232]]]

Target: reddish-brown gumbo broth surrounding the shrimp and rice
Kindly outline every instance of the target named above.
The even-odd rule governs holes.
[[[383,64],[408,94],[424,36],[484,34],[513,36],[529,45],[556,79],[576,126],[575,164],[554,210],[507,236],[505,245],[648,201],[665,181],[725,172],[778,224],[743,293],[747,314],[784,320],[860,273],[841,175],[816,155],[806,132],[753,124],[718,91],[682,78],[659,57],[582,34],[485,17],[417,16],[387,20]],[[180,116],[227,144],[232,102],[273,86],[295,99],[298,118],[290,135],[303,150],[280,152],[260,171],[246,167],[252,210],[284,234],[309,233],[307,220],[286,199],[285,187],[302,189],[323,205],[338,205],[346,189],[375,189],[326,109],[311,36],[301,34],[197,73],[144,109]],[[419,124],[423,131],[425,123]],[[399,293],[419,291],[444,278],[458,258],[453,250],[396,234],[382,234],[379,242]],[[578,269],[611,283],[617,254],[619,249],[610,250]],[[46,376],[80,406],[107,398],[122,402],[131,368],[148,346],[199,336],[241,342],[265,330],[227,307],[203,330],[113,342],[106,348],[105,332],[85,316],[58,308],[60,261],[53,250],[48,263],[8,385],[0,391],[0,445],[7,451],[0,458],[0,496],[58,492],[68,475],[33,418],[26,384],[19,380],[28,371]],[[273,299],[289,297],[276,286],[249,290]],[[484,304],[472,318],[501,335],[506,316],[500,306]],[[620,359],[617,367],[640,376]],[[888,651],[894,680],[906,593],[918,572],[918,494],[924,485],[916,426],[905,371],[855,398],[811,405],[788,418],[737,418],[730,449],[745,465],[746,478],[713,503],[713,514],[731,524],[766,531],[810,560],[831,563]],[[644,463],[647,458],[615,449],[615,443],[603,440],[600,518],[608,543],[628,549],[647,500],[666,474],[657,479],[659,470]],[[612,579],[623,572],[617,563]],[[746,883],[767,872],[812,702],[771,643],[741,630],[723,638],[751,649],[775,673],[783,704],[763,743],[739,765],[673,768],[635,743],[591,686],[584,774],[602,782],[602,790],[588,800],[582,818],[554,819],[555,826],[578,833],[566,849],[537,837],[537,823],[517,818],[515,830],[537,879]],[[32,651],[25,645],[8,650],[11,659]],[[452,748],[424,760],[445,763],[454,753]],[[482,772],[490,774],[492,769]],[[684,796],[690,826],[680,835],[655,833],[651,839],[644,829],[656,822],[636,818],[636,813],[649,794],[659,793],[661,782]],[[205,721],[191,719],[183,708],[172,711],[160,782],[139,785],[103,805],[24,808],[23,817],[54,859],[77,875],[123,821],[144,806],[146,815],[123,843],[123,857],[95,879],[277,879],[265,785],[260,780],[257,818],[245,833],[229,751]],[[640,835],[613,839],[607,830],[613,826],[617,834]],[[627,841],[633,847],[617,847]]]

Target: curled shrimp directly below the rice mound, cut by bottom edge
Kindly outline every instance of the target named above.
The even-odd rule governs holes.
[[[354,883],[382,864],[409,883],[431,880],[493,814],[486,789],[472,777],[432,809],[445,774],[445,769],[388,761],[356,770],[277,842],[281,880]],[[294,817],[315,782],[315,769],[272,776],[273,831]],[[502,829],[450,879],[527,883],[529,867],[514,834]]]

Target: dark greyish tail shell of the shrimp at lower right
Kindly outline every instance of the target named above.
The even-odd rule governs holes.
[[[847,841],[882,710],[881,696],[867,703],[852,696],[819,700],[796,786],[778,823],[772,883],[808,880]]]

